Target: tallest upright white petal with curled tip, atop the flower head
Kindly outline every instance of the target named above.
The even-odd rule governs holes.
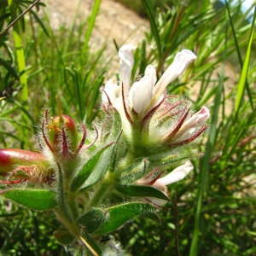
[[[131,70],[134,65],[134,58],[131,53],[136,46],[125,44],[119,49],[119,65],[120,65],[120,80],[124,84],[125,93],[128,93],[130,88]]]

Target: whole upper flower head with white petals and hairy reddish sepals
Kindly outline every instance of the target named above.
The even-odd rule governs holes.
[[[186,101],[166,95],[166,87],[184,72],[196,55],[189,49],[178,52],[158,82],[154,67],[148,65],[143,78],[131,85],[133,49],[136,47],[131,44],[119,49],[120,81],[117,84],[111,79],[105,84],[103,107],[119,112],[133,154],[151,154],[152,150],[191,143],[207,129],[209,110],[203,107],[191,114]]]

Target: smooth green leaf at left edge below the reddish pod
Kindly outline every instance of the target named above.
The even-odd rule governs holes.
[[[55,207],[55,192],[46,189],[7,189],[0,195],[15,201],[23,207],[47,211]]]

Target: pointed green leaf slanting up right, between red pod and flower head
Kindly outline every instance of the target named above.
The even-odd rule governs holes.
[[[99,152],[97,152],[95,155],[93,155],[90,160],[88,160],[83,168],[77,173],[77,175],[73,178],[73,182],[70,186],[71,191],[78,190],[86,181],[88,177],[90,177],[91,172],[93,172],[93,175],[96,175],[97,172],[103,172],[106,165],[105,155],[103,154],[105,151],[107,151],[107,154],[110,152],[110,156],[113,151],[113,143],[109,143],[107,146],[102,148]],[[109,160],[108,160],[109,164]],[[108,168],[108,165],[107,167]]]

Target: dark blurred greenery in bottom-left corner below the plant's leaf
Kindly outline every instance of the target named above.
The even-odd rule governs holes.
[[[0,247],[2,255],[44,255],[64,253],[52,236],[58,228],[53,213],[42,214],[0,201]],[[65,255],[65,254],[64,254]]]

